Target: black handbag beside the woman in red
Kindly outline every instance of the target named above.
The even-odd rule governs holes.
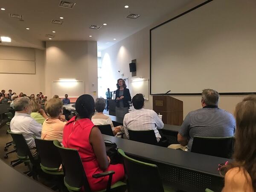
[[[116,143],[111,142],[110,140],[104,140],[106,146],[106,152],[108,157],[110,158],[110,164],[118,164],[122,163],[122,157],[119,155]]]

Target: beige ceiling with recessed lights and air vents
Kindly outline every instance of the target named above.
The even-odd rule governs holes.
[[[0,0],[0,7],[6,9],[0,10],[0,35],[12,38],[12,43],[7,45],[40,49],[44,49],[44,41],[97,41],[101,51],[192,0],[67,1],[76,3],[73,9],[59,7],[60,0]],[[129,8],[125,9],[125,5]],[[23,15],[24,21],[9,17],[10,13]],[[140,14],[140,17],[136,20],[126,18],[130,13]],[[51,23],[52,19],[60,20],[59,17],[64,17],[62,25]],[[103,23],[108,25],[103,26]],[[90,25],[102,28],[89,29]],[[46,34],[55,37],[48,40]]]

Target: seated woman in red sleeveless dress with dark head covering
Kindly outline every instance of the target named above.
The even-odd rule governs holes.
[[[107,187],[108,176],[93,178],[92,175],[114,171],[113,184],[124,178],[124,167],[122,164],[110,164],[102,134],[91,122],[95,112],[93,97],[80,96],[76,101],[76,112],[78,115],[70,119],[64,127],[62,143],[64,147],[78,150],[91,190],[99,191]]]

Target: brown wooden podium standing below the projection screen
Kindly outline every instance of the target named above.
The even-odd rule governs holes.
[[[153,110],[163,115],[163,123],[181,125],[183,122],[183,102],[171,96],[153,96]]]

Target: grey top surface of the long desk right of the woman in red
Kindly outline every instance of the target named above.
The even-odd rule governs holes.
[[[118,148],[123,149],[127,154],[217,177],[221,177],[217,170],[218,164],[230,161],[226,158],[164,148],[108,135],[103,135],[103,137],[104,140],[116,143]]]

